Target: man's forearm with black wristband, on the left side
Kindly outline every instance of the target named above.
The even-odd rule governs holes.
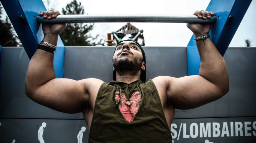
[[[56,46],[58,35],[45,36],[43,41]],[[37,88],[55,78],[53,56],[54,54],[44,50],[36,50],[30,60],[26,74],[25,87],[27,95],[33,94]]]

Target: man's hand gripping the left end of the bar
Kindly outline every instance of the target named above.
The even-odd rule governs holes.
[[[48,20],[56,18],[58,15],[61,15],[60,12],[53,10],[41,12],[39,14],[40,17]],[[66,25],[67,23],[43,24],[42,29],[45,36],[59,35]]]

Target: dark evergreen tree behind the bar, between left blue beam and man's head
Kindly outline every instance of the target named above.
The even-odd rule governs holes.
[[[81,2],[79,4],[76,0],[66,5],[66,10],[62,8],[62,13],[64,15],[75,15],[84,14],[83,6]],[[102,43],[96,43],[96,38],[93,38],[88,32],[93,29],[93,24],[91,23],[68,23],[67,27],[61,32],[60,36],[65,46],[95,46]],[[101,44],[102,45],[102,44]]]

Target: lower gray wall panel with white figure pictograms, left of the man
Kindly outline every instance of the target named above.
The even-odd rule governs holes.
[[[46,123],[42,134],[45,143],[77,143],[77,135],[81,127],[83,143],[88,142],[88,126],[84,120],[51,120],[51,119],[0,119],[0,142],[40,143],[38,130]]]

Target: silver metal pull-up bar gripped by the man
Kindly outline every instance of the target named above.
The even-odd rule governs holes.
[[[216,16],[199,19],[194,15],[59,15],[48,20],[37,16],[38,23],[83,23],[83,22],[172,22],[215,23]]]

